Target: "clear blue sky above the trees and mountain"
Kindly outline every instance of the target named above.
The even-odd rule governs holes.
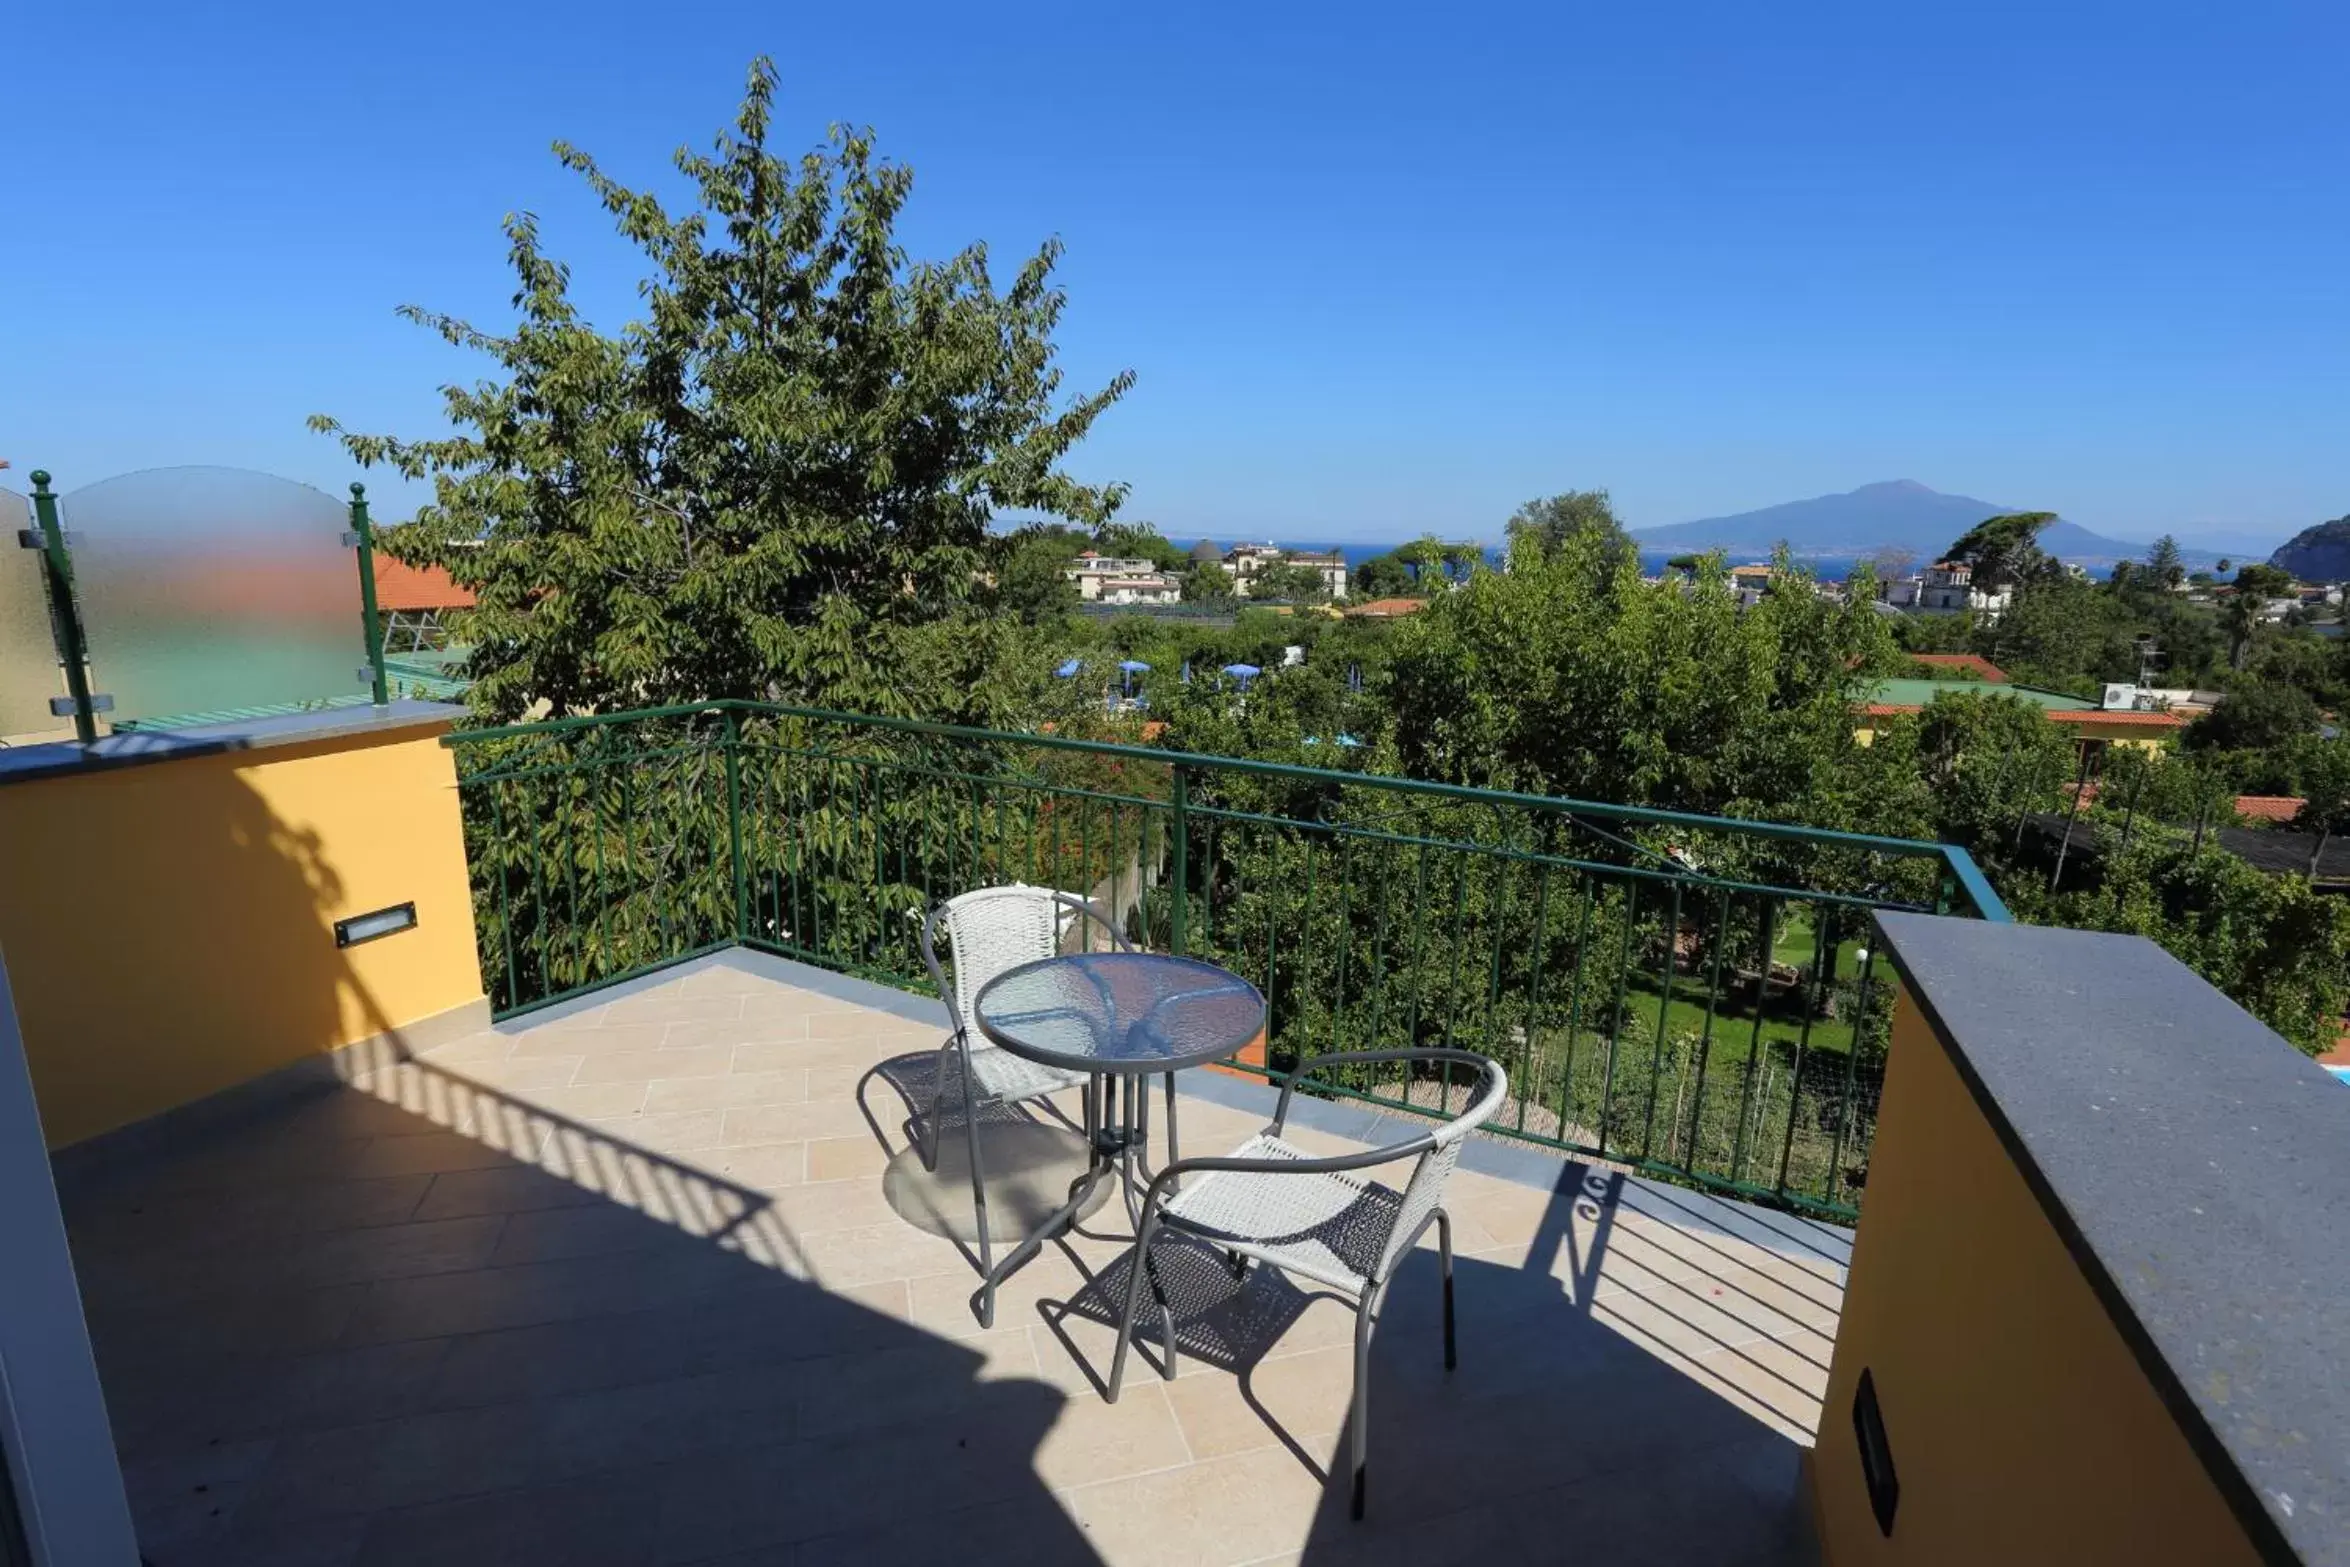
[[[1149,14],[1144,14],[1149,12]],[[1274,14],[1269,21],[1267,14]],[[1076,470],[1177,538],[1636,526],[1922,479],[2148,538],[2350,512],[2350,7],[19,7],[0,456],[355,472],[432,432],[538,211],[597,320],[623,179],[785,75],[916,254],[1067,242]],[[374,489],[390,515],[404,496]]]

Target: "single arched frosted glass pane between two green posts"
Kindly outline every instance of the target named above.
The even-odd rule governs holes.
[[[242,468],[150,468],[59,507],[118,724],[367,691],[341,500]]]

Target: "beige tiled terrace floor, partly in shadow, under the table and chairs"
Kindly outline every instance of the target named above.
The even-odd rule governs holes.
[[[153,1567],[1812,1560],[1840,1231],[1476,1144],[1462,1365],[1426,1250],[1356,1525],[1337,1302],[1260,1271],[1107,1405],[1112,1208],[980,1330],[935,1233],[966,1189],[902,1156],[884,1081],[881,1137],[858,1104],[938,1036],[933,1003],[726,954],[78,1175]],[[1250,1092],[1201,1078],[1184,1149],[1253,1132]],[[1304,1142],[1363,1130],[1316,1114]]]

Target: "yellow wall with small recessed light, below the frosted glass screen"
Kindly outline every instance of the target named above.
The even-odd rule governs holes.
[[[49,1146],[479,1001],[446,724],[0,787]],[[416,902],[338,951],[334,921]]]

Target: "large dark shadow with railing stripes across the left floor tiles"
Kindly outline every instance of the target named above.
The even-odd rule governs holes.
[[[766,1193],[397,1036],[348,1067],[73,1182],[153,1567],[971,1560],[968,1508],[1100,1562],[1062,1395],[815,1283]]]

